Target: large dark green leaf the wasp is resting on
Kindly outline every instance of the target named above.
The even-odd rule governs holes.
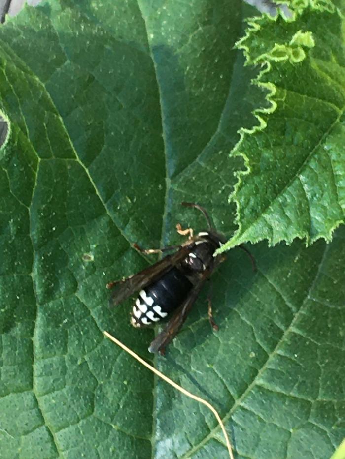
[[[345,432],[345,232],[240,249],[154,358],[152,330],[105,283],[132,247],[227,236],[245,169],[229,152],[265,93],[234,43],[238,1],[51,2],[0,29],[0,457],[226,458],[213,415],[103,337],[108,330],[224,419],[237,458],[330,457]]]

